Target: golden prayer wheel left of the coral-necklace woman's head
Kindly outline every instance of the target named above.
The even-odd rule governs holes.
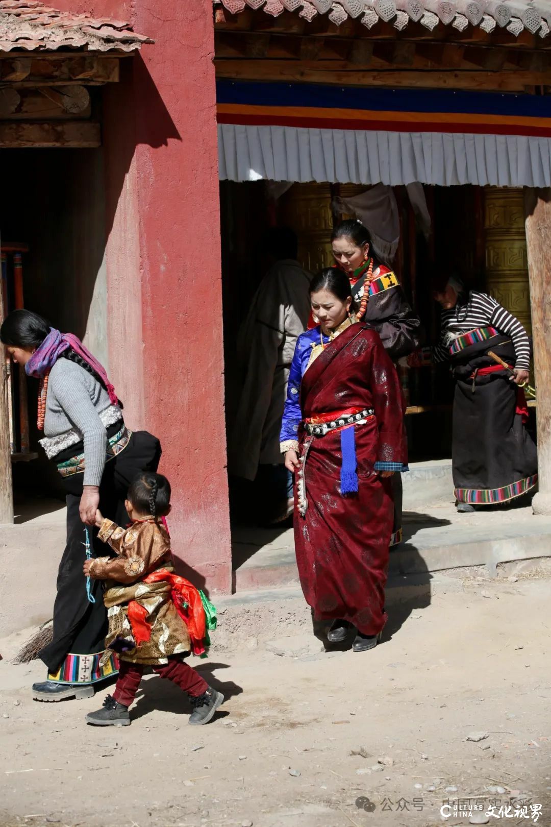
[[[293,184],[281,198],[280,220],[297,233],[298,261],[306,270],[316,273],[334,263],[330,184]]]

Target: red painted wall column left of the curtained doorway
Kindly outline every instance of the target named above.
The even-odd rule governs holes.
[[[230,588],[211,0],[56,0],[154,38],[103,93],[110,370],[162,441],[173,549]]]

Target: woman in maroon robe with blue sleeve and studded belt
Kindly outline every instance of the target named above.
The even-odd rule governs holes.
[[[297,471],[295,547],[306,601],[333,620],[331,643],[354,628],[353,649],[378,643],[392,534],[392,473],[406,471],[397,372],[378,332],[355,323],[347,276],[311,282],[320,322],[298,338],[281,449]]]

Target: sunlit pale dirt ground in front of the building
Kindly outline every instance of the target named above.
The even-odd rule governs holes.
[[[550,592],[534,573],[435,576],[368,653],[259,629],[195,659],[227,699],[201,728],[157,676],[130,727],[87,726],[105,691],[36,703],[43,667],[11,666],[21,638],[2,641],[0,825],[549,827]]]

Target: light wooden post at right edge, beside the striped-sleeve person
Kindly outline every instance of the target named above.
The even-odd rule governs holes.
[[[537,394],[539,491],[534,514],[551,514],[551,189],[525,188],[525,227],[530,275]]]

